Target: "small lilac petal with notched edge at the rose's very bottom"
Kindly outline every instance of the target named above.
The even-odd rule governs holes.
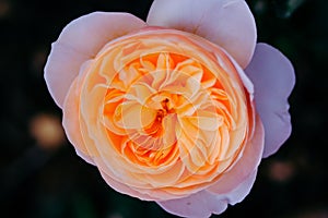
[[[210,217],[211,214],[223,213],[227,207],[226,201],[208,191],[201,191],[188,197],[156,203],[171,214],[190,218]]]

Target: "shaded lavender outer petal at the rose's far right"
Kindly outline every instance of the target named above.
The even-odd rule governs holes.
[[[263,157],[268,157],[292,131],[288,97],[295,84],[294,69],[279,50],[258,44],[246,74],[255,86],[256,109],[266,133]]]

